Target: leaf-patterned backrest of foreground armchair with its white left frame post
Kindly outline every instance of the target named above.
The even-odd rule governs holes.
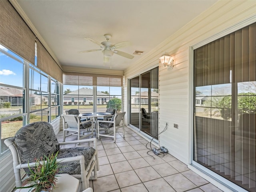
[[[20,128],[14,137],[4,140],[4,144],[12,152],[16,187],[22,184],[20,168],[16,166],[20,163],[35,162],[43,155],[48,156],[60,149],[52,125],[48,122],[30,123]]]

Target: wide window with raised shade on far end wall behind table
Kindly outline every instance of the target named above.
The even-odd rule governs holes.
[[[68,108],[77,108],[80,113],[106,112],[107,108],[121,111],[122,80],[118,75],[65,73],[64,111]]]

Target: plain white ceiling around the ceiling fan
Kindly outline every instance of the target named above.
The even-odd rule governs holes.
[[[111,34],[113,44],[130,41],[117,50],[134,55],[132,60],[112,56],[112,70],[125,70],[182,26],[208,9],[216,0],[17,0],[58,62],[66,66],[110,69],[104,66],[97,42]]]

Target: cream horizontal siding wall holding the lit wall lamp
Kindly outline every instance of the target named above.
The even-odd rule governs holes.
[[[139,62],[124,71],[124,101],[126,102],[128,78],[150,67],[153,68],[152,66],[158,63],[158,58],[163,51],[173,56],[174,68],[172,70],[167,70],[162,65],[159,66],[159,132],[164,129],[164,122],[169,123],[166,132],[160,135],[159,144],[165,146],[171,155],[185,164],[191,163],[192,138],[189,47],[210,36],[221,35],[224,29],[254,16],[255,13],[256,1],[218,1],[178,32],[170,34],[168,39],[151,52],[145,53]],[[124,111],[127,110],[128,103],[124,104]],[[174,123],[178,124],[178,129],[173,127]]]

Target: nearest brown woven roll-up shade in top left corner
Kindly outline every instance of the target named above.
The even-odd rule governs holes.
[[[0,0],[0,44],[35,63],[35,35],[8,0]]]

